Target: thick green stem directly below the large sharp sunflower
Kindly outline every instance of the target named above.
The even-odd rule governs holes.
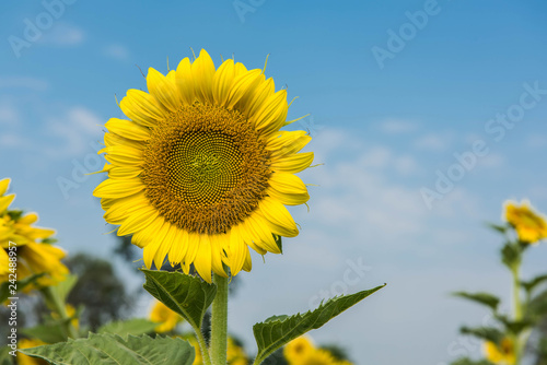
[[[226,364],[228,352],[228,278],[214,274],[217,296],[211,314],[211,357],[213,365]]]

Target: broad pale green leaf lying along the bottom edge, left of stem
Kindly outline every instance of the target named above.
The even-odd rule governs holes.
[[[70,339],[20,352],[54,365],[191,365],[195,357],[194,348],[178,338],[128,335],[124,339],[110,333],[90,333],[88,339]]]

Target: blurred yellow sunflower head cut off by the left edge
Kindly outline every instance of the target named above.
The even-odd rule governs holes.
[[[10,179],[0,180],[0,283],[7,282],[11,273],[8,270],[10,242],[16,244],[18,281],[43,274],[33,284],[25,286],[24,292],[63,281],[69,270],[60,261],[66,256],[65,251],[50,245],[49,237],[55,231],[33,226],[38,220],[36,213],[23,214],[19,210],[9,210],[15,198],[15,195],[5,195],[9,185]]]

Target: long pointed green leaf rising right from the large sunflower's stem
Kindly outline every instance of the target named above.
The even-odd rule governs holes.
[[[258,353],[256,355],[257,361],[255,362],[259,363],[266,360],[266,357],[289,341],[294,340],[307,331],[322,327],[344,310],[384,286],[385,284],[369,291],[330,298],[322,303],[317,309],[307,311],[303,315],[298,314],[291,317],[274,316],[266,319],[264,322],[256,323],[253,326],[253,332],[258,345]]]

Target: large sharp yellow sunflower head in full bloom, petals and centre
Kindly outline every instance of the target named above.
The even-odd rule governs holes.
[[[296,177],[313,161],[298,153],[304,131],[280,131],[289,105],[264,71],[229,59],[216,70],[206,50],[163,75],[149,69],[148,93],[129,90],[128,119],[105,125],[108,179],[94,191],[105,220],[143,248],[144,264],[165,257],[211,282],[252,268],[249,247],[279,254],[278,236],[294,237],[284,205],[305,203]]]

